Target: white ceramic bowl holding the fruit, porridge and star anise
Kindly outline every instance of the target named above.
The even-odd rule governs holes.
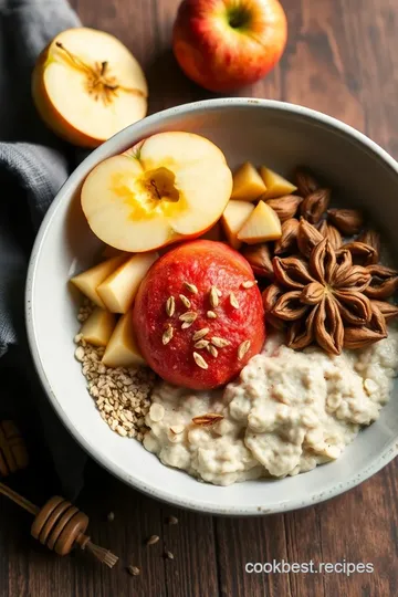
[[[67,280],[92,264],[98,241],[80,207],[80,188],[92,168],[161,130],[209,137],[231,167],[252,160],[289,175],[311,165],[352,206],[368,210],[397,252],[398,165],[367,137],[328,116],[263,100],[213,100],[161,112],[126,128],[93,151],[60,190],[34,244],[27,286],[31,350],[49,399],[74,438],[109,472],[145,493],[192,510],[260,514],[293,510],[337,495],[381,469],[397,453],[398,396],[380,419],[360,432],[342,458],[281,481],[247,481],[228,488],[199,483],[160,464],[140,443],[112,432],[85,389],[74,359],[76,304]]]

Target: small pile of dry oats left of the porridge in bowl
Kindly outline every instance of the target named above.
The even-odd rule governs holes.
[[[84,301],[77,320],[84,323],[93,308],[90,301]],[[155,374],[144,367],[106,367],[101,363],[104,348],[91,346],[81,334],[77,334],[74,341],[77,345],[75,357],[82,364],[88,392],[94,398],[101,417],[119,436],[143,441],[147,430],[145,416],[150,407]]]

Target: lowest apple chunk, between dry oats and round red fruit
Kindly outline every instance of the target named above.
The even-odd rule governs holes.
[[[107,367],[133,367],[145,365],[145,360],[138,349],[134,327],[133,313],[128,311],[119,318],[102,362]]]

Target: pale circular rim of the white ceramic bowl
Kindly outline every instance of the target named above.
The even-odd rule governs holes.
[[[115,145],[115,142],[121,142],[123,144],[123,140],[126,142],[126,147],[128,144],[136,143],[140,138],[143,138],[139,134],[140,128],[155,128],[158,123],[161,123],[165,118],[169,118],[172,116],[179,116],[179,115],[186,115],[186,114],[195,114],[196,112],[202,112],[203,109],[219,109],[222,107],[262,107],[262,108],[269,108],[280,112],[287,112],[293,115],[303,116],[308,119],[315,121],[322,125],[324,125],[327,128],[333,128],[335,130],[338,130],[348,137],[352,137],[355,142],[357,142],[358,145],[365,146],[370,153],[376,154],[385,164],[387,164],[397,175],[398,175],[398,163],[379,145],[377,145],[375,142],[373,142],[369,137],[367,137],[365,134],[360,133],[359,130],[355,129],[354,127],[343,123],[342,121],[338,121],[337,118],[334,118],[332,116],[328,116],[326,114],[323,114],[321,112],[314,111],[312,108],[307,108],[304,106],[300,106],[296,104],[290,104],[286,102],[280,102],[274,100],[262,100],[262,98],[255,98],[255,97],[224,97],[224,98],[216,98],[216,100],[203,100],[199,102],[192,102],[189,104],[179,105],[176,107],[171,107],[168,109],[164,109],[161,112],[158,112],[156,114],[153,114],[150,116],[147,116],[143,118],[142,121],[132,124],[130,126],[126,127],[125,129],[121,130],[111,139],[103,143],[100,147],[97,147],[94,151],[92,151],[78,166],[75,168],[75,170],[67,177],[67,179],[64,181],[60,190],[57,191],[56,196],[53,199],[52,205],[50,206],[46,214],[43,218],[43,221],[41,223],[41,227],[39,229],[39,232],[36,234],[33,249],[31,252],[30,261],[29,261],[29,268],[28,268],[28,275],[27,275],[27,284],[25,284],[25,325],[27,325],[27,332],[28,332],[28,344],[30,347],[31,355],[33,357],[33,363],[35,370],[39,375],[39,379],[42,384],[42,387],[45,391],[45,395],[49,398],[49,401],[52,406],[52,408],[55,410],[57,417],[61,419],[62,423],[66,427],[71,436],[74,438],[74,440],[84,449],[84,451],[93,458],[98,464],[101,464],[104,469],[106,469],[108,472],[111,472],[114,476],[121,479],[124,483],[127,485],[143,492],[144,494],[155,498],[157,500],[160,500],[163,502],[172,504],[178,507],[184,507],[190,511],[201,512],[201,513],[208,513],[208,514],[217,514],[217,515],[233,515],[233,516],[259,516],[264,513],[266,514],[274,514],[280,512],[287,512],[292,510],[298,510],[301,507],[305,507],[308,505],[313,505],[316,503],[321,503],[323,501],[329,500],[331,498],[335,498],[349,489],[358,485],[376,472],[378,472],[380,469],[383,469],[386,464],[388,464],[397,454],[398,454],[398,442],[397,438],[390,440],[384,448],[384,450],[378,454],[378,457],[375,457],[370,464],[363,469],[360,471],[360,474],[358,472],[353,472],[344,483],[337,483],[336,485],[332,486],[332,489],[327,492],[322,493],[308,493],[305,501],[303,500],[295,500],[294,498],[290,499],[287,502],[282,501],[276,506],[272,507],[271,510],[264,510],[261,509],[259,511],[258,506],[244,506],[242,505],[229,505],[228,509],[226,506],[220,506],[217,503],[213,502],[202,502],[195,498],[191,499],[179,499],[178,495],[171,494],[167,491],[167,489],[163,488],[149,488],[142,483],[139,480],[136,480],[132,476],[130,473],[127,473],[124,471],[121,467],[118,467],[115,462],[112,461],[111,458],[106,455],[106,453],[97,453],[94,446],[88,443],[74,428],[72,421],[69,419],[66,413],[64,412],[62,406],[60,402],[55,399],[51,385],[48,380],[45,369],[43,366],[43,363],[40,357],[38,343],[36,343],[36,332],[34,326],[34,317],[33,317],[33,303],[34,303],[34,285],[35,285],[35,273],[36,273],[36,266],[38,262],[42,252],[43,248],[43,241],[45,239],[45,234],[48,229],[50,228],[52,223],[52,219],[54,218],[54,214],[56,210],[60,208],[60,206],[70,199],[73,188],[78,185],[83,180],[83,178],[86,176],[85,171],[90,171],[97,163],[100,163],[104,157],[102,157],[103,154],[106,154],[107,148],[112,145]],[[137,130],[137,133],[135,133]],[[150,133],[153,134],[153,133]],[[132,142],[132,138],[135,138],[134,142]],[[224,488],[226,491],[228,491],[228,488]]]

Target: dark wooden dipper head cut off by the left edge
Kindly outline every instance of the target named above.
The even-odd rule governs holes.
[[[0,422],[0,476],[8,476],[29,464],[25,442],[13,421]]]

